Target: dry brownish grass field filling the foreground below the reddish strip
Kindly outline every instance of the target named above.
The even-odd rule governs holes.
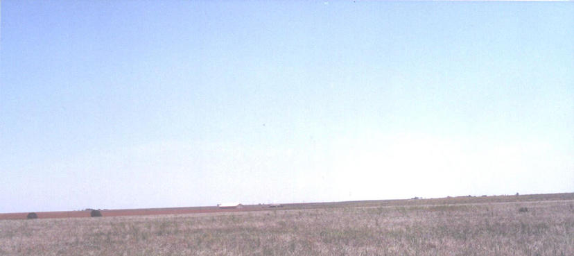
[[[4,220],[0,255],[574,255],[572,194],[453,200]]]

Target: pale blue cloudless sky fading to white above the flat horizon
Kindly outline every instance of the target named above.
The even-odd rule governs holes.
[[[574,192],[574,6],[1,2],[0,212]]]

